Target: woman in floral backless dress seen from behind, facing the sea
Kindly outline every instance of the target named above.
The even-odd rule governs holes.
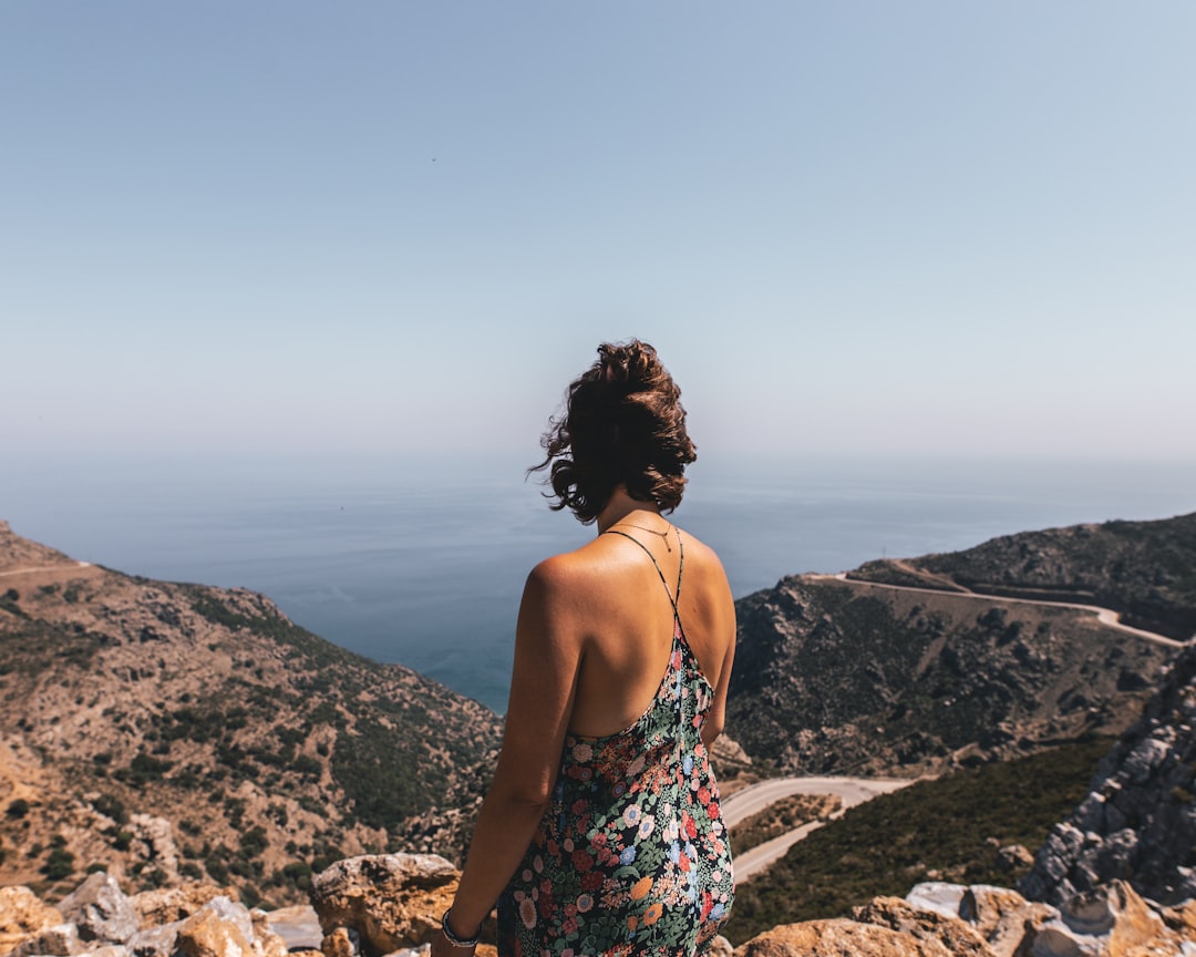
[[[496,900],[499,953],[519,957],[702,953],[731,908],[707,754],[734,603],[664,517],[695,459],[681,390],[646,342],[598,354],[536,467],[598,536],[527,578],[502,750],[433,957],[468,955]]]

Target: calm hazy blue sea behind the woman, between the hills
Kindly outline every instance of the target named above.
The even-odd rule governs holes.
[[[529,569],[594,534],[548,507],[526,464],[80,453],[0,469],[0,519],[83,561],[263,592],[329,641],[502,713]],[[800,572],[1184,514],[1194,475],[1194,462],[728,458],[692,467],[672,518],[743,597]]]

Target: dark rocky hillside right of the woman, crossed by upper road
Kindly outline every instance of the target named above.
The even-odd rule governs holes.
[[[737,602],[727,730],[791,773],[903,775],[1118,733],[1174,642],[1039,602],[1099,599],[1136,609],[1141,627],[1183,633],[1194,569],[1186,516],[869,562],[847,580],[785,578]],[[1039,602],[965,592],[994,581]]]

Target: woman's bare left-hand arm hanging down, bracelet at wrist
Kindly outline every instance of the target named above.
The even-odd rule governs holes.
[[[569,725],[581,641],[573,627],[567,559],[541,562],[527,577],[511,677],[502,750],[477,816],[450,926],[472,937],[523,860],[548,807]],[[457,957],[443,934],[433,957]]]

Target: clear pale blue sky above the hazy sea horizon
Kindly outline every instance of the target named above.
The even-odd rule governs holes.
[[[8,455],[1196,458],[1190,2],[0,6]],[[526,453],[524,453],[526,457]]]

